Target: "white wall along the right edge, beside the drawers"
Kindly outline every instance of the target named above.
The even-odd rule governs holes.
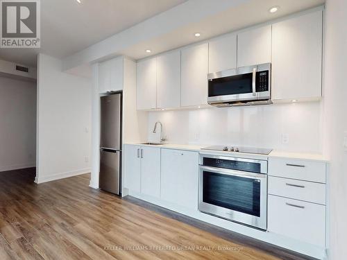
[[[347,255],[347,1],[328,0],[325,10],[325,148],[330,155],[329,259]]]

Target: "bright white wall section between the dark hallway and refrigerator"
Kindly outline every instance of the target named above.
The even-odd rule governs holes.
[[[37,64],[36,182],[90,172],[92,80],[62,72],[48,55]]]

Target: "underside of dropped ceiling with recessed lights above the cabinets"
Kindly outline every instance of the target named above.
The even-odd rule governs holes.
[[[323,3],[325,0],[251,0],[219,12],[217,15],[206,17],[198,23],[192,23],[160,37],[129,46],[128,49],[124,49],[119,54],[139,60],[149,55],[176,49],[223,33],[237,31],[294,12],[321,6]],[[271,14],[269,9],[273,6],[280,6],[280,9]],[[201,37],[194,37],[195,32],[201,33]],[[151,49],[152,53],[146,53],[144,51],[146,49]]]

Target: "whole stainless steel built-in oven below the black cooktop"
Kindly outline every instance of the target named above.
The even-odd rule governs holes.
[[[198,210],[267,228],[267,160],[201,154]]]

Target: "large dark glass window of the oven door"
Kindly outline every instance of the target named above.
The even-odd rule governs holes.
[[[260,181],[203,171],[203,202],[260,216]]]

